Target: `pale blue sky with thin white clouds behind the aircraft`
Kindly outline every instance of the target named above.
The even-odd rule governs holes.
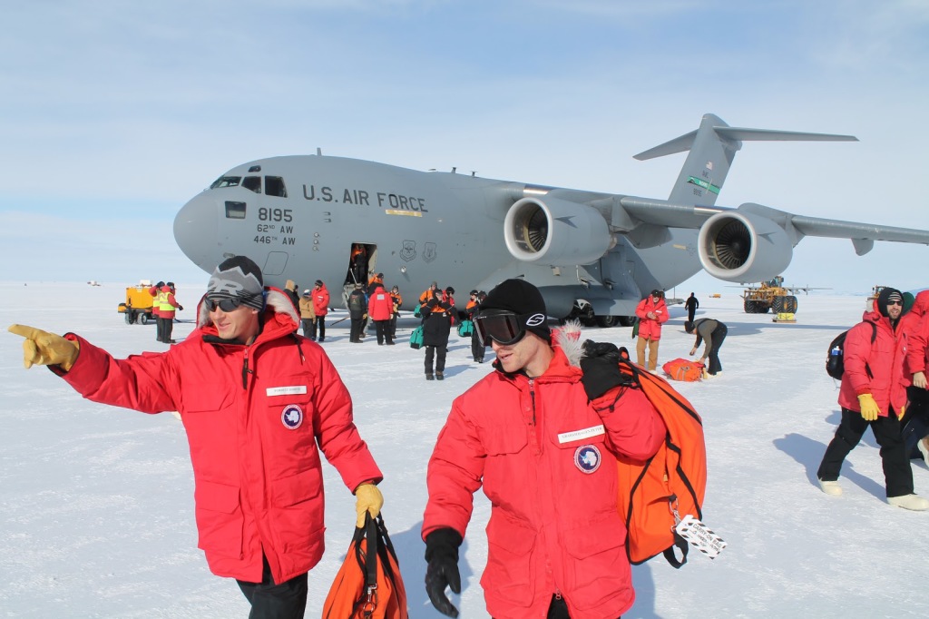
[[[719,203],[929,229],[918,0],[31,2],[0,39],[12,281],[205,281],[177,209],[233,165],[313,152],[666,197],[697,127],[746,143]],[[806,239],[789,283],[925,285],[926,246]],[[686,286],[722,288],[707,276]]]

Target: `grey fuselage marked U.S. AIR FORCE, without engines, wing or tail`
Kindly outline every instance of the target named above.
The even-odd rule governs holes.
[[[321,155],[273,157],[238,165],[185,204],[175,219],[181,250],[207,272],[232,255],[251,257],[266,283],[316,280],[340,305],[344,284],[384,273],[407,298],[430,283],[459,298],[507,277],[543,289],[553,315],[585,298],[599,315],[631,315],[651,288],[681,283],[700,270],[694,230],[636,249],[624,237],[594,264],[574,268],[515,259],[504,243],[504,217],[520,198],[553,188]],[[578,200],[611,194],[558,190]],[[690,251],[687,250],[689,247]],[[363,273],[352,256],[365,256]],[[682,251],[683,250],[683,251]],[[363,282],[367,283],[367,282]],[[408,304],[406,306],[410,308]]]

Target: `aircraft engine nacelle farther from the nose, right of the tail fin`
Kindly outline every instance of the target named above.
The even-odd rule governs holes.
[[[754,213],[717,213],[700,227],[700,264],[726,282],[762,282],[791,263],[793,244],[777,223]]]

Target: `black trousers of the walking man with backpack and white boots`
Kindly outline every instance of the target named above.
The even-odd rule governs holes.
[[[835,437],[822,456],[817,477],[823,481],[836,481],[842,470],[842,463],[865,430],[871,428],[874,439],[881,445],[881,462],[883,464],[884,485],[887,496],[913,494],[913,471],[909,468],[909,454],[903,443],[900,421],[894,411],[890,415],[878,417],[875,421],[865,421],[857,411],[842,409],[842,422],[835,430]]]

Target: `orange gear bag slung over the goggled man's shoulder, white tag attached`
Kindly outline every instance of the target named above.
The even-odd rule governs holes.
[[[658,453],[646,461],[617,456],[617,509],[626,523],[631,563],[658,554],[675,568],[687,562],[687,540],[674,527],[688,514],[702,519],[706,494],[706,443],[703,420],[668,381],[635,365],[620,349],[620,370],[652,403],[668,428]],[[680,551],[680,560],[674,554]]]

